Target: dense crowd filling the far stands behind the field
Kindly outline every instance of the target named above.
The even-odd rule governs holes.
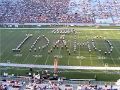
[[[0,0],[0,23],[95,23],[96,18],[120,23],[119,0],[81,0],[81,11],[74,13],[69,12],[74,6],[70,1]]]

